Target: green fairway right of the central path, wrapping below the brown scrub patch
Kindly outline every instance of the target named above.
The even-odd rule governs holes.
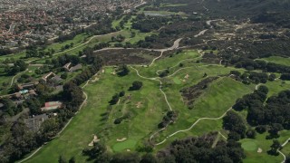
[[[191,85],[193,83],[191,82]],[[179,86],[180,87],[180,86]],[[162,141],[165,137],[169,136],[173,132],[179,129],[189,129],[189,127],[197,121],[199,118],[218,118],[225,113],[233,104],[237,98],[253,91],[253,86],[247,86],[240,82],[236,82],[230,78],[221,78],[216,82],[213,82],[208,86],[208,89],[198,98],[195,102],[194,108],[189,110],[188,107],[182,101],[179,89],[167,88],[166,93],[173,110],[179,112],[179,119],[170,125],[168,129],[160,133],[160,137],[156,138],[157,142]],[[212,123],[210,123],[212,122]],[[189,131],[178,133],[173,136],[172,139],[184,138],[190,135],[202,135],[208,130],[220,130],[221,123],[219,125],[208,125],[207,123],[213,124],[215,120],[201,120],[200,123],[206,124],[194,127]],[[219,127],[218,127],[219,126]],[[207,129],[208,128],[208,129]],[[205,129],[205,130],[204,130]],[[179,136],[180,135],[180,136]],[[168,144],[166,142],[165,144]]]

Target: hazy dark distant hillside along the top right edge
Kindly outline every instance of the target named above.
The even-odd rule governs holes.
[[[289,0],[159,0],[158,3],[187,4],[167,6],[169,11],[208,13],[220,17],[244,17],[261,13],[290,11]]]

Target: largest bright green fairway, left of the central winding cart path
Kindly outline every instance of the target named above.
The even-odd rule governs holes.
[[[57,162],[59,155],[66,158],[75,156],[77,161],[82,162],[82,149],[88,148],[92,134],[104,140],[111,151],[118,143],[116,139],[127,138],[138,143],[148,139],[166,110],[166,102],[158,89],[158,82],[142,80],[135,72],[125,77],[117,77],[110,72],[111,68],[98,76],[99,81],[90,82],[85,87],[88,101],[84,108],[73,118],[68,128],[63,130],[61,137],[45,145],[28,162]],[[127,91],[131,83],[137,80],[143,82],[143,88],[140,91]],[[119,104],[112,106],[108,120],[103,120],[104,113],[110,108],[108,101],[111,101],[111,96],[122,90],[126,91],[125,97],[121,98]],[[129,96],[131,100],[126,100]],[[138,102],[141,103],[139,108],[136,106]],[[116,118],[128,114],[129,119],[123,120],[119,125],[113,124]],[[129,142],[128,146],[123,147],[132,150],[137,148],[132,141]]]

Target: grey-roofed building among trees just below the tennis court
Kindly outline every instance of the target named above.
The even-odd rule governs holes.
[[[43,121],[48,120],[48,118],[49,117],[47,114],[36,115],[28,119],[24,119],[24,123],[26,124],[28,129],[37,131],[41,127]]]

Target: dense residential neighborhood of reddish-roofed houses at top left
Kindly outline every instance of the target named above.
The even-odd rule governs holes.
[[[61,34],[86,28],[117,8],[128,9],[128,0],[4,0],[0,4],[0,49],[53,41]]]

